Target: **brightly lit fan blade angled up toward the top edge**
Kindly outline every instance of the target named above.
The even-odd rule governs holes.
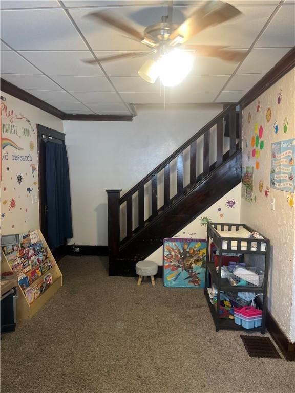
[[[209,26],[218,25],[241,14],[236,7],[219,0],[210,0],[188,17],[178,29],[170,34],[169,39],[182,37],[187,41]]]

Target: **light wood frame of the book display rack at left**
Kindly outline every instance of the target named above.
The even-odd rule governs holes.
[[[45,238],[41,231],[37,229],[37,232],[39,234],[40,241],[43,242],[44,247],[47,247],[47,253],[48,253],[48,259],[52,261],[53,266],[51,269],[49,269],[47,272],[45,272],[42,276],[40,276],[37,280],[35,280],[28,288],[36,286],[38,283],[43,281],[44,277],[51,273],[52,274],[52,285],[47,288],[47,290],[42,293],[37,299],[35,299],[31,304],[28,302],[26,295],[22,288],[20,287],[19,284],[18,286],[18,298],[16,300],[16,315],[17,315],[17,320],[22,320],[22,319],[31,319],[38,310],[45,304],[56,292],[57,290],[62,287],[62,274],[59,270],[59,267],[57,266],[57,263],[50,251],[50,248],[48,247]],[[1,271],[12,271],[12,268],[9,265],[9,262],[4,254],[4,252],[1,250]]]

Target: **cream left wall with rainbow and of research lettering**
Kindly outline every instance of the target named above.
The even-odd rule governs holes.
[[[63,132],[63,124],[62,120],[35,106],[6,93],[1,93],[1,95],[6,98],[6,101],[0,101],[2,138],[3,143],[6,144],[6,147],[3,145],[4,148],[1,150],[3,165],[1,231],[3,234],[22,233],[29,229],[39,228],[39,204],[32,204],[31,198],[32,194],[38,197],[36,124],[45,125],[60,132]],[[31,165],[34,165],[36,170]],[[17,175],[20,177],[17,178]],[[17,180],[19,180],[18,183]],[[28,188],[32,191],[28,192]]]

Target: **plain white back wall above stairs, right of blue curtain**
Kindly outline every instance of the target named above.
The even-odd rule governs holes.
[[[141,110],[133,122],[66,121],[73,242],[107,245],[106,189],[128,191],[222,111]]]

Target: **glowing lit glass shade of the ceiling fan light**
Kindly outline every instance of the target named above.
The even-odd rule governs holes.
[[[194,57],[191,53],[174,49],[159,61],[159,74],[164,86],[176,86],[189,74],[193,68]]]

